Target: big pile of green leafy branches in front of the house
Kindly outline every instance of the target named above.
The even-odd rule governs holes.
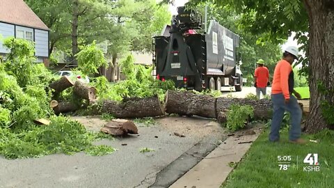
[[[49,107],[51,90],[47,88],[54,76],[44,65],[35,63],[30,42],[9,38],[5,44],[10,54],[0,64],[0,155],[16,159],[72,154],[91,147],[100,136],[88,133],[77,121],[54,116]],[[50,119],[51,123],[35,125],[38,118]],[[94,151],[102,155],[111,148],[101,146]]]

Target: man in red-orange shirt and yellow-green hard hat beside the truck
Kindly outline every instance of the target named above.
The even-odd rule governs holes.
[[[257,63],[257,68],[255,69],[255,88],[256,88],[256,96],[260,99],[260,95],[267,95],[267,83],[269,80],[269,70],[264,67],[263,59],[259,59]]]

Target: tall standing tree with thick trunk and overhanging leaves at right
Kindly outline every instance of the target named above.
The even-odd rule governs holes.
[[[204,0],[192,0],[198,3]],[[267,33],[264,40],[278,41],[292,31],[303,41],[310,85],[308,132],[334,125],[334,1],[333,0],[214,0],[229,5],[242,17],[243,29]],[[309,37],[309,40],[308,40]],[[305,63],[306,62],[306,63]]]

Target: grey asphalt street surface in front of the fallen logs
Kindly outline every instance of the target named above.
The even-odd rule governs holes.
[[[203,129],[205,123],[210,122],[207,119],[184,118],[180,122],[173,120],[170,124],[184,123],[188,119],[191,123],[197,124],[193,127],[203,125]],[[30,159],[1,157],[0,187],[149,187],[156,182],[159,171],[182,156],[184,152],[191,150],[205,136],[191,134],[185,137],[175,136],[173,130],[159,125],[138,127],[138,130],[140,133],[138,136],[127,136],[114,141],[98,141],[97,144],[106,144],[118,149],[111,155],[102,157],[88,156],[83,152],[72,156],[57,154]],[[221,133],[215,134],[219,136]],[[215,141],[218,141],[218,138]],[[122,146],[125,143],[127,146]],[[207,152],[214,149],[205,146],[207,145],[198,149],[202,150],[202,155],[207,155]],[[141,148],[152,148],[154,152],[141,153],[139,152]],[[191,160],[186,162],[186,157],[184,164],[188,166],[184,168],[184,173],[199,162]],[[172,169],[175,168],[177,169],[177,166]],[[171,178],[168,180],[171,183],[180,178],[175,179],[173,171],[170,171],[170,175],[165,177]]]

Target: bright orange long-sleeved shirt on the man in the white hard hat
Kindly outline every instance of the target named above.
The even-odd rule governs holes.
[[[282,59],[278,61],[273,71],[271,94],[283,93],[285,99],[289,99],[292,91],[294,91],[294,71],[290,63]]]

